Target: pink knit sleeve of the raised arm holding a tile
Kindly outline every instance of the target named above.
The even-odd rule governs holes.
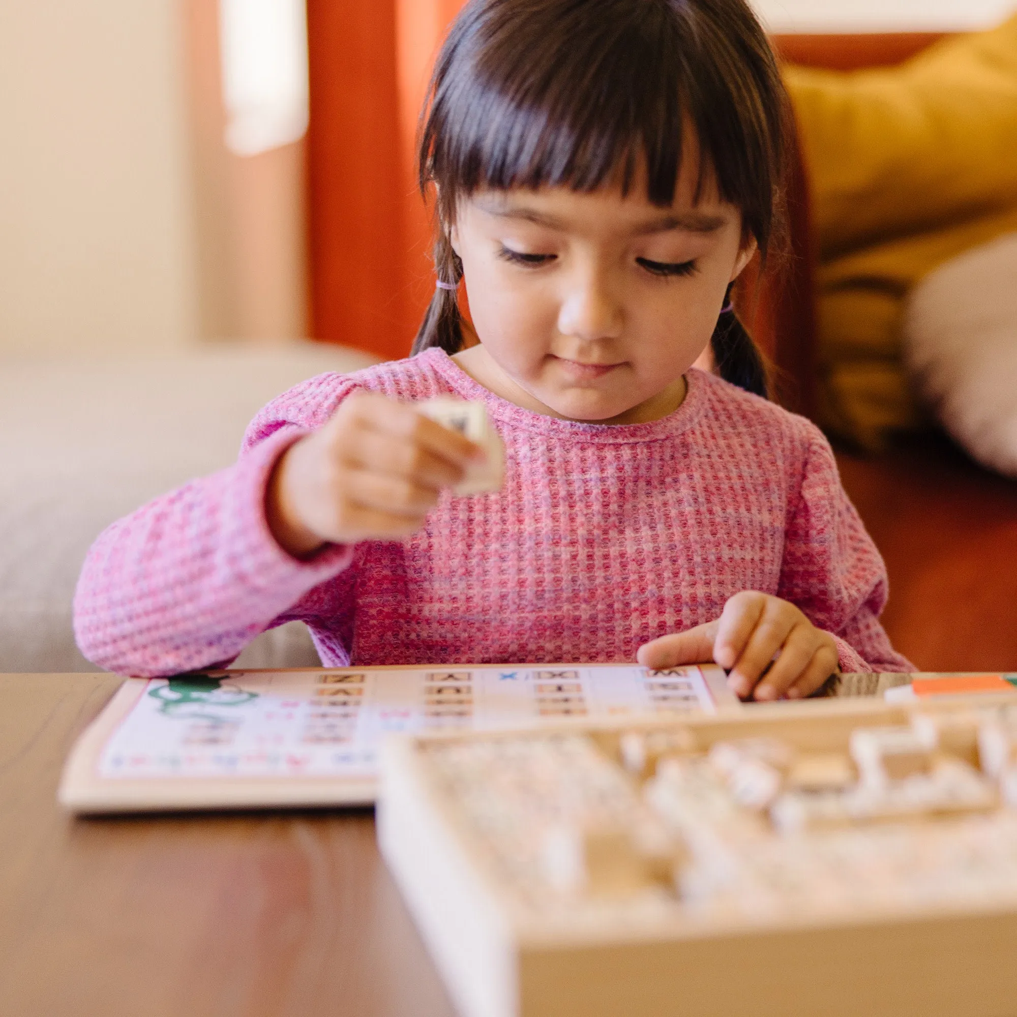
[[[343,605],[328,596],[306,595],[343,572],[353,548],[292,557],[268,529],[264,496],[279,457],[352,390],[336,375],[291,390],[255,417],[236,464],[102,533],[74,597],[81,652],[121,674],[177,674],[231,661],[283,620],[313,621],[300,608],[304,600],[315,614],[338,613]]]

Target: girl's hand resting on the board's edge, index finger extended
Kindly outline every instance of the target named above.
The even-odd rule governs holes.
[[[801,699],[837,670],[834,638],[817,629],[793,604],[745,590],[724,605],[716,621],[661,636],[641,646],[644,667],[676,667],[713,658],[730,673],[727,683],[742,699]]]

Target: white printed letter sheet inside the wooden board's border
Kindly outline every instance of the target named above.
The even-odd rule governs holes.
[[[371,777],[394,731],[735,705],[717,667],[534,665],[211,671],[154,678],[100,756],[104,778]]]

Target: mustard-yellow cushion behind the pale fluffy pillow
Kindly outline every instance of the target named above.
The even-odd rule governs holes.
[[[907,292],[1017,227],[1017,16],[899,67],[785,79],[819,241],[822,422],[872,447],[922,421],[901,364]]]

